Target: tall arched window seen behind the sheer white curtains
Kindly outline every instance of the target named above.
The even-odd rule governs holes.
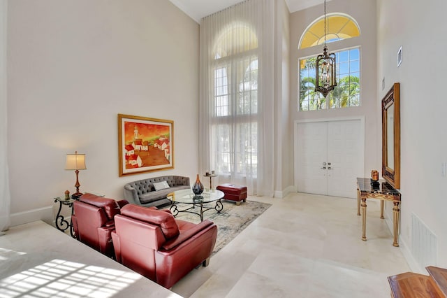
[[[217,44],[213,74],[212,160],[217,172],[256,177],[258,164],[257,38],[247,27],[231,30],[244,35],[236,51]],[[223,56],[223,57],[222,57]]]

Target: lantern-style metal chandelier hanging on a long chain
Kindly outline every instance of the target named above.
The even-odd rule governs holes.
[[[316,57],[315,63],[315,91],[323,94],[324,97],[328,96],[328,93],[334,90],[337,86],[337,80],[335,80],[335,54],[329,53],[326,47],[326,0],[324,0],[324,48],[323,55]]]

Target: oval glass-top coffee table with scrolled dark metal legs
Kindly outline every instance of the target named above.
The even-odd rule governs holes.
[[[179,212],[194,213],[200,216],[200,221],[203,221],[203,213],[208,210],[216,210],[220,213],[223,209],[221,199],[223,198],[223,192],[220,190],[204,190],[202,194],[196,196],[192,190],[177,190],[168,194],[167,198],[171,202],[169,208],[170,212],[174,216],[177,216]],[[216,204],[213,204],[213,203]],[[179,209],[178,204],[191,205],[189,208]]]

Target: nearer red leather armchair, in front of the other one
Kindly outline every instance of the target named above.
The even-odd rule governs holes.
[[[200,264],[207,266],[217,238],[210,220],[176,220],[168,210],[126,205],[115,216],[115,257],[124,266],[171,288]]]

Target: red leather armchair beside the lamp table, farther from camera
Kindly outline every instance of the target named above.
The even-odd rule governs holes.
[[[114,216],[119,214],[126,200],[115,201],[94,194],[83,194],[73,202],[74,214],[71,216],[76,239],[87,244],[108,257],[114,255],[112,236],[115,230]]]

